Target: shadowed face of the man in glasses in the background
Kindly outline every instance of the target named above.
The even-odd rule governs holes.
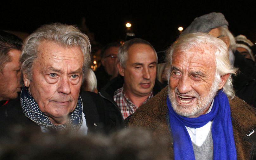
[[[113,75],[114,67],[116,67],[114,65],[116,65],[117,62],[118,49],[119,47],[110,47],[107,49],[104,54],[105,56],[101,61],[102,66],[104,66],[105,71],[109,75]]]

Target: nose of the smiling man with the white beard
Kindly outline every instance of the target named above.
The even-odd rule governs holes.
[[[177,85],[180,94],[186,94],[192,90],[191,82],[188,76],[182,76]]]

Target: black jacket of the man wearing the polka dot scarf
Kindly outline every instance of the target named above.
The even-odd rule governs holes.
[[[109,110],[106,101],[98,94],[81,91],[80,96],[83,102],[83,113],[85,114],[88,133],[109,133],[122,126],[123,119],[119,110],[114,110],[112,107]],[[38,125],[23,114],[19,98],[0,108],[0,134],[6,134],[9,127],[16,124],[33,127],[37,131],[41,130]]]

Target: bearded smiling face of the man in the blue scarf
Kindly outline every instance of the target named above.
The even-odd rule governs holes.
[[[173,54],[169,98],[174,111],[184,117],[199,117],[208,111],[218,90],[215,56],[208,45]]]

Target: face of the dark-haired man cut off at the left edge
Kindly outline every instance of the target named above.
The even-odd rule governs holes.
[[[21,51],[11,49],[8,53],[10,62],[3,66],[0,72],[0,99],[11,100],[18,97],[18,92],[21,91],[20,83],[20,55]]]

